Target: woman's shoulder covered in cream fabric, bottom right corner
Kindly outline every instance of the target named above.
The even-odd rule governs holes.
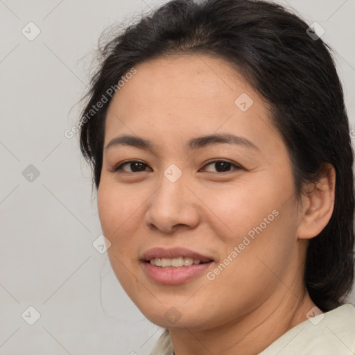
[[[355,352],[355,306],[343,304],[287,331],[259,355],[351,355]]]

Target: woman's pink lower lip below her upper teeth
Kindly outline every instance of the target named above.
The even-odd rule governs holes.
[[[175,285],[183,284],[193,277],[201,275],[211,267],[213,262],[182,266],[180,268],[159,268],[151,263],[142,263],[144,271],[155,282],[159,284]]]

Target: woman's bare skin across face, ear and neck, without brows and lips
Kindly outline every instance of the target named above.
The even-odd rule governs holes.
[[[135,135],[152,141],[155,150],[104,150],[98,212],[112,243],[112,268],[141,312],[169,329],[176,355],[257,354],[307,320],[315,306],[302,280],[303,263],[309,239],[333,211],[334,168],[328,166],[297,205],[288,151],[268,107],[230,64],[175,55],[136,69],[110,103],[105,146]],[[243,93],[253,101],[245,112],[234,103]],[[184,148],[188,139],[222,132],[258,149]],[[114,171],[131,159],[146,167],[132,172],[126,164]],[[223,173],[210,159],[242,168]],[[176,182],[164,176],[171,164],[182,171]],[[184,284],[157,284],[139,261],[150,248],[182,247],[214,259],[208,271],[214,270],[273,210],[278,216],[212,281],[204,272]],[[164,316],[171,307],[180,317],[174,323]]]

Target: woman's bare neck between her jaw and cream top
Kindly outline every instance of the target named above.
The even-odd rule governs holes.
[[[286,286],[284,286],[286,289]],[[214,329],[169,329],[175,355],[255,355],[297,324],[307,320],[315,304],[305,287],[275,293],[263,304],[233,322]]]

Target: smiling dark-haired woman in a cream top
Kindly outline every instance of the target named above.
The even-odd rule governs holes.
[[[265,1],[175,0],[114,37],[80,148],[153,355],[354,354],[353,152],[326,45]]]

